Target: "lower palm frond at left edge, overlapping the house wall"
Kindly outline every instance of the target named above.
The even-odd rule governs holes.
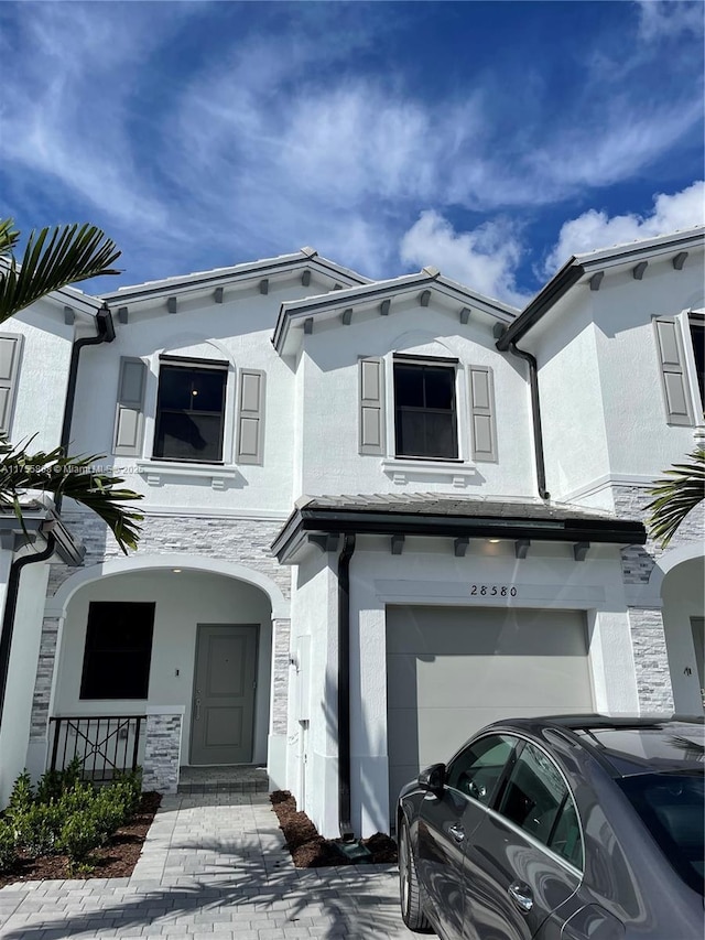
[[[0,439],[0,507],[11,507],[22,519],[20,496],[31,489],[75,499],[91,509],[109,527],[120,549],[135,549],[140,537],[141,512],[124,504],[142,499],[141,494],[122,489],[121,477],[96,469],[104,457],[65,456],[62,447],[29,453],[26,444],[12,446]]]

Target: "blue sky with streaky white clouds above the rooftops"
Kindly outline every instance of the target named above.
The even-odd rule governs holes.
[[[702,224],[701,2],[0,3],[0,216],[112,290],[295,251],[521,304]]]

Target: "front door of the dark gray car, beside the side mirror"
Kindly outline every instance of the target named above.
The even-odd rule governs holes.
[[[498,734],[470,742],[447,765],[443,792],[427,793],[421,804],[416,867],[445,940],[465,938],[465,846],[482,822],[516,744]]]

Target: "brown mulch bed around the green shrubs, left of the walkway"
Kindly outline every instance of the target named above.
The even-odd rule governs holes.
[[[37,882],[45,878],[129,877],[140,857],[142,843],[161,802],[161,793],[142,793],[140,807],[131,822],[121,826],[106,845],[93,853],[95,867],[91,872],[69,875],[65,855],[44,855],[41,858],[21,856],[10,872],[0,875],[0,887],[13,882]]]

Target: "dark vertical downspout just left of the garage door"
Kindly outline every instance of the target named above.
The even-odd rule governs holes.
[[[355,533],[343,537],[338,557],[338,820],[340,835],[352,842],[350,822],[350,559]]]

